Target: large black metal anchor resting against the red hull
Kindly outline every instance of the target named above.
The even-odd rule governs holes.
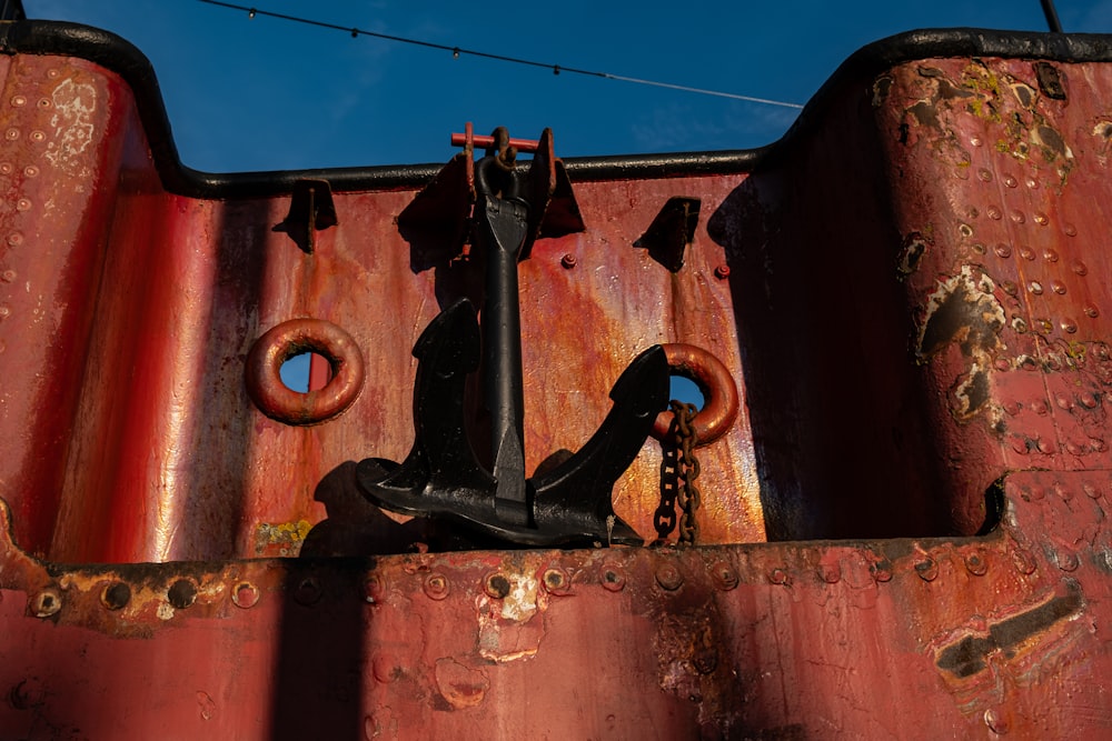
[[[626,368],[610,391],[614,405],[587,443],[550,471],[526,480],[517,261],[528,204],[520,172],[500,151],[476,164],[476,241],[487,264],[481,339],[474,306],[441,311],[414,347],[415,439],[400,464],[369,458],[357,481],[375,504],[450,519],[522,545],[636,544],[643,539],[614,513],[614,483],[629,467],[667,405],[669,368],[654,346]],[[508,159],[508,162],[507,162]],[[488,472],[467,439],[464,385],[484,356],[484,397],[492,418]]]

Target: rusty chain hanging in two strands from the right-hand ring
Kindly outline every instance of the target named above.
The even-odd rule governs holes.
[[[679,543],[684,545],[693,545],[698,538],[695,513],[703,503],[698,487],[695,485],[699,475],[699,462],[695,457],[698,433],[692,421],[697,413],[695,404],[672,401],[673,420],[667,442],[663,445],[664,460],[661,462],[661,505],[654,518],[657,537],[664,540],[676,528],[678,504],[682,512],[678,518]]]

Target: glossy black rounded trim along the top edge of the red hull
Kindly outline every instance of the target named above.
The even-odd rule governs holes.
[[[195,198],[265,198],[290,192],[296,180],[328,180],[334,191],[406,190],[424,186],[443,164],[326,168],[275,172],[211,173],[181,163],[150,61],[115,33],[78,23],[0,22],[0,53],[79,57],[118,73],[131,87],[150,141],[155,166],[169,192]],[[807,102],[780,140],[759,149],[672,154],[583,157],[564,160],[576,182],[644,180],[752,172],[821,124],[828,100],[848,80],[875,76],[917,59],[1002,57],[1062,62],[1112,61],[1112,36],[937,29],[888,37],[857,50]]]

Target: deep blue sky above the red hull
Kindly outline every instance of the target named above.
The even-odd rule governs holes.
[[[916,28],[1045,30],[1039,0],[240,0],[259,10],[612,74],[805,103],[837,64]],[[1112,0],[1058,0],[1066,31],[1112,32]],[[465,121],[555,133],[562,157],[767,144],[797,111],[524,68],[315,29],[197,0],[24,0],[155,66],[182,161],[230,172],[441,162]],[[659,10],[652,10],[658,7]]]

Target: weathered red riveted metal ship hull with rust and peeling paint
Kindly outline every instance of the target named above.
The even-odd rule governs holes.
[[[709,351],[741,412],[698,547],[316,559],[480,291],[396,223],[435,170],[300,173],[338,221],[306,250],[294,176],[180,168],[141,60],[3,32],[0,738],[1112,733],[1108,40],[905,37],[768,151],[566,163],[586,229],[519,267],[527,468],[648,346]],[[677,198],[709,217],[663,264]],[[334,417],[248,391],[291,320],[360,356]],[[661,461],[615,488],[646,538]]]

